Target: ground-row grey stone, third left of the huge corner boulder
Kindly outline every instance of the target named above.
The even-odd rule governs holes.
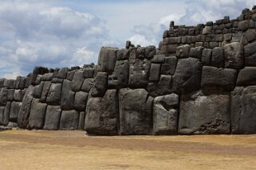
[[[47,106],[43,129],[57,130],[61,120],[61,106]]]

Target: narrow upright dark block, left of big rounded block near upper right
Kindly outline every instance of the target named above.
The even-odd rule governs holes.
[[[211,66],[215,68],[224,68],[224,51],[223,48],[216,47],[212,49]]]

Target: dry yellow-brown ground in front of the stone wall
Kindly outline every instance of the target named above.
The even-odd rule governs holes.
[[[256,135],[89,137],[0,132],[0,169],[256,169]]]

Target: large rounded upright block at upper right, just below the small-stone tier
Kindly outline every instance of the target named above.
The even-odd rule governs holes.
[[[243,67],[243,45],[238,42],[224,45],[225,68]]]

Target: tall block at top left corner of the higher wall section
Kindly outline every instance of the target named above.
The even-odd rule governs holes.
[[[98,57],[98,71],[112,72],[116,65],[117,48],[102,47]]]

